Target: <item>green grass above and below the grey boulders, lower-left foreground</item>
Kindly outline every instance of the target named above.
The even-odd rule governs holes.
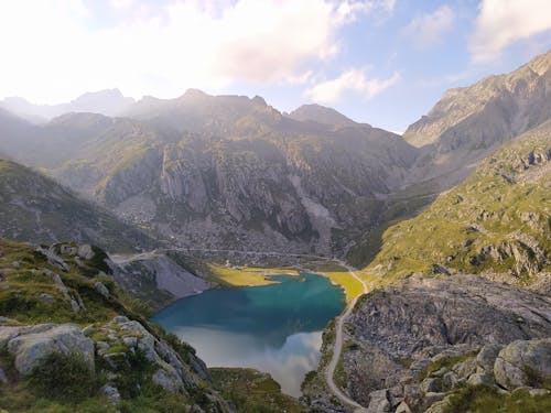
[[[97,257],[106,257],[100,250]],[[68,271],[62,271],[36,251],[35,247],[13,241],[0,240],[0,314],[11,319],[11,324],[40,324],[40,323],[73,323],[80,327],[94,324],[100,326],[110,320],[115,315],[122,314],[131,319],[137,319],[147,326],[158,337],[165,337],[174,343],[173,337],[156,326],[150,325],[144,317],[147,308],[142,303],[128,296],[117,287],[112,279],[102,271],[106,270],[102,260],[84,261],[84,267],[77,264],[74,257],[62,256],[68,264]],[[55,272],[67,287],[69,296],[79,296],[86,311],[74,312],[67,297],[56,286],[48,271]],[[102,282],[110,291],[110,297],[105,298],[94,287],[97,281]],[[48,300],[43,300],[47,294]],[[48,303],[50,300],[53,302]],[[173,345],[176,351],[184,349],[184,345]],[[184,352],[185,352],[184,351]],[[185,360],[185,354],[181,352]],[[0,411],[9,412],[115,412],[98,391],[105,378],[97,372],[96,379],[87,396],[72,400],[37,393],[28,379],[21,380],[13,369],[13,360],[0,351],[0,368],[9,376],[10,382],[0,382]],[[131,370],[131,380],[142,383],[141,394],[126,400],[119,410],[121,412],[184,412],[185,404],[194,403],[181,394],[172,394],[156,388],[149,378],[147,366],[142,369]],[[84,372],[84,374],[87,374]],[[90,378],[80,377],[82,381],[90,382]],[[201,393],[201,392],[199,392]],[[197,393],[195,396],[199,398]]]

